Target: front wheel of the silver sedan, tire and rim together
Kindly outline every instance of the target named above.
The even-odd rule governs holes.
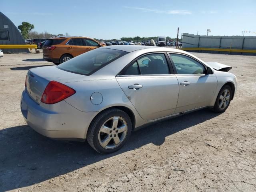
[[[216,98],[213,111],[216,113],[225,112],[230,104],[231,98],[232,98],[231,87],[228,85],[223,86]]]

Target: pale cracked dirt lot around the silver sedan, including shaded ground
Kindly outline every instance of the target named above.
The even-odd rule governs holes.
[[[20,112],[29,68],[42,54],[0,59],[0,191],[256,191],[256,56],[194,53],[233,66],[228,110],[200,110],[134,132],[109,155],[88,143],[50,140]]]

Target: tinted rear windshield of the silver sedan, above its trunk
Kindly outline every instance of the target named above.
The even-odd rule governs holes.
[[[127,54],[125,51],[98,48],[72,58],[58,65],[57,68],[72,73],[91,75],[125,54]]]

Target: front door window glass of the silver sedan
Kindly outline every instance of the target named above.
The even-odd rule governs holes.
[[[181,54],[170,54],[177,74],[201,75],[205,73],[205,67],[200,62]]]

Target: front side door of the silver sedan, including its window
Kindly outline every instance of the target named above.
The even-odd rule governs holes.
[[[206,75],[206,66],[184,54],[169,54],[179,83],[175,113],[208,106],[217,88],[215,74]]]

